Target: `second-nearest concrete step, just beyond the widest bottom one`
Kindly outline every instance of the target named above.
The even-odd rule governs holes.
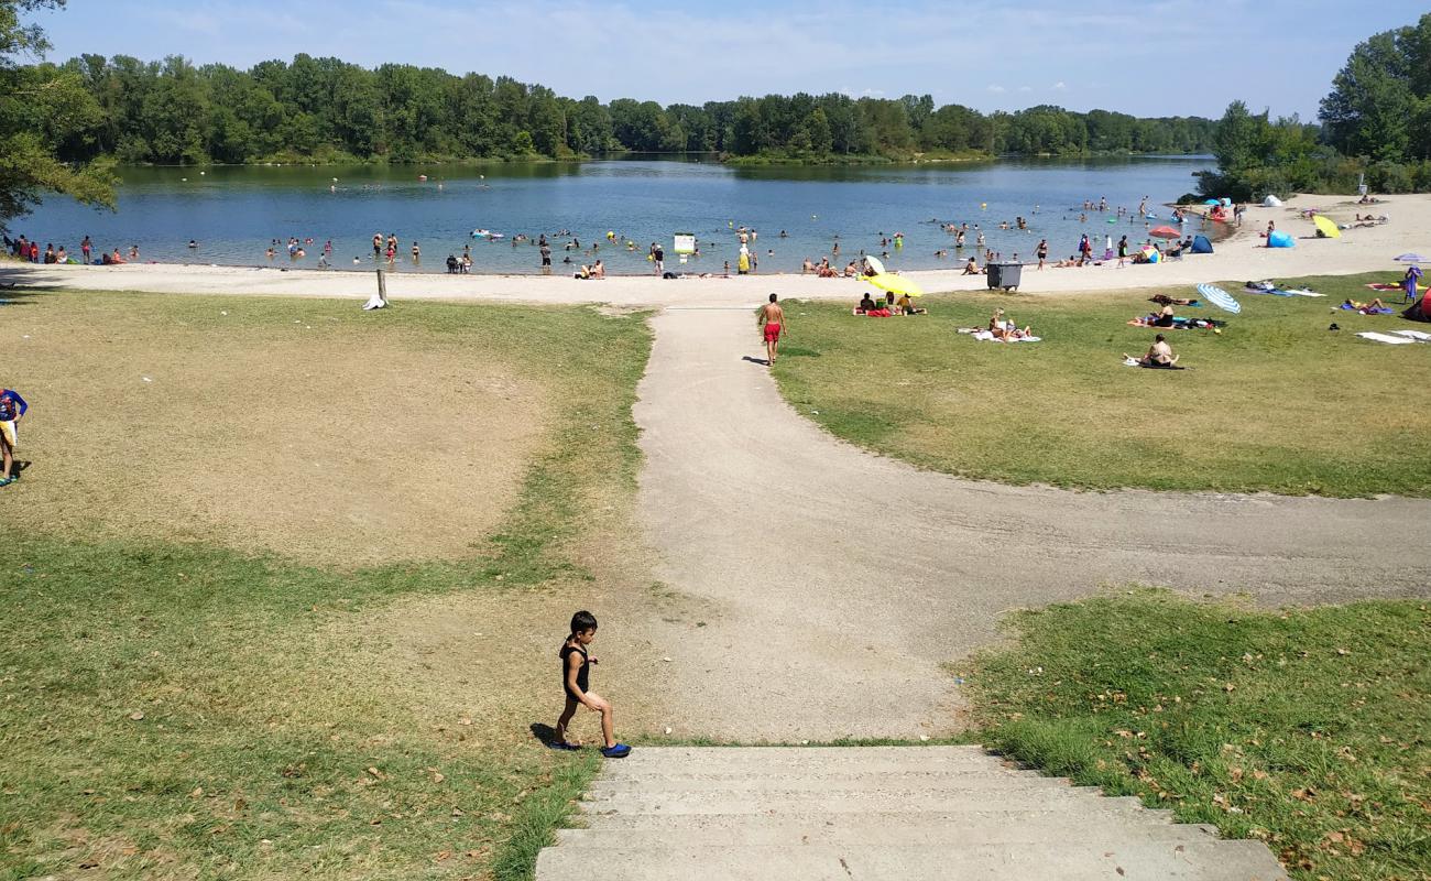
[[[1007,817],[997,821],[975,821],[942,818],[919,821],[917,815],[904,815],[900,824],[866,822],[864,817],[847,818],[840,824],[790,822],[786,818],[763,818],[766,822],[744,827],[713,827],[703,822],[687,822],[683,827],[650,828],[600,828],[560,829],[557,844],[561,847],[588,848],[660,848],[680,838],[700,841],[703,845],[756,847],[756,845],[811,845],[827,844],[854,849],[870,845],[880,847],[946,847],[967,848],[993,844],[1037,845],[1049,841],[1078,841],[1093,847],[1116,849],[1129,837],[1141,841],[1171,841],[1173,844],[1206,844],[1218,841],[1216,829],[1203,825],[1178,825],[1171,822],[1128,824],[1108,819],[1068,819],[1052,815],[1045,822],[1010,824]],[[708,819],[708,818],[691,818]]]

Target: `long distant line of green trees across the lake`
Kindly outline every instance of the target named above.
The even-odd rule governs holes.
[[[990,113],[933,97],[768,95],[703,106],[562,97],[545,86],[434,67],[368,69],[306,54],[250,70],[86,54],[39,64],[93,99],[60,158],[123,163],[565,159],[612,150],[737,159],[910,159],[1206,150],[1215,123],[1039,106]]]

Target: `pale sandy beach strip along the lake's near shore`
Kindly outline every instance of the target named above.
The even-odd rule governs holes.
[[[1319,208],[1338,223],[1354,223],[1355,215],[1374,213],[1388,223],[1347,229],[1339,239],[1314,238],[1312,222],[1302,211]],[[1296,238],[1296,246],[1262,246],[1259,231],[1274,221],[1278,229]],[[1188,223],[1191,232],[1198,222]],[[1103,231],[1090,223],[1095,241]],[[1072,251],[1073,242],[1055,242],[1052,254]],[[1068,294],[1148,287],[1196,285],[1208,281],[1296,278],[1304,275],[1347,275],[1355,272],[1400,272],[1392,261],[1414,251],[1431,255],[1431,195],[1382,196],[1375,205],[1358,205],[1351,196],[1296,196],[1281,208],[1249,206],[1239,231],[1216,244],[1216,254],[1191,255],[1158,265],[1116,262],[1102,266],[1023,269],[1020,294]],[[952,264],[953,264],[952,258]],[[904,274],[929,292],[977,291],[985,276],[962,275],[960,269]],[[373,272],[282,269],[258,266],[186,266],[173,264],[130,264],[122,266],[29,266],[0,264],[0,278],[27,288],[76,288],[93,291],[150,291],[159,294],[239,294],[366,299],[376,291]],[[391,301],[505,301],[505,302],[607,302],[622,307],[731,307],[754,304],[770,292],[810,299],[849,299],[866,289],[856,279],[827,279],[810,275],[753,275],[731,278],[660,279],[620,275],[602,281],[577,281],[568,272],[539,275],[432,275],[388,274]]]

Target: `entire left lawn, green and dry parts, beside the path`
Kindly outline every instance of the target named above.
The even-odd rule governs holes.
[[[34,466],[0,491],[0,878],[528,874],[597,766],[528,725],[560,709],[571,612],[625,590],[600,549],[630,529],[641,317],[17,299],[0,384],[30,401]],[[248,385],[223,362],[243,350],[273,352],[242,361]],[[398,425],[414,404],[425,437]],[[187,407],[226,433],[169,418]],[[114,413],[143,433],[126,444]],[[472,413],[521,424],[518,448],[492,450]],[[462,431],[434,434],[446,423]],[[263,467],[205,473],[229,457]],[[402,507],[405,487],[441,506]],[[266,510],[288,526],[263,529]]]

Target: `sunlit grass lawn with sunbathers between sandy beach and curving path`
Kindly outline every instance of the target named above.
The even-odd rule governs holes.
[[[1069,272],[1072,269],[1059,269]],[[1282,279],[1321,299],[1242,295],[1221,335],[1169,331],[1186,371],[1122,367],[1148,328],[1129,318],[1155,291],[926,298],[932,315],[854,318],[853,305],[797,302],[776,378],[837,437],[913,464],[1003,483],[1284,494],[1431,494],[1431,410],[1415,388],[1431,347],[1379,345],[1361,329],[1400,317],[1329,312],[1391,274]],[[1196,297],[1192,289],[1163,291]],[[1394,295],[1392,295],[1394,297]],[[1005,307],[1037,344],[976,342]],[[1337,322],[1341,332],[1328,332]]]

